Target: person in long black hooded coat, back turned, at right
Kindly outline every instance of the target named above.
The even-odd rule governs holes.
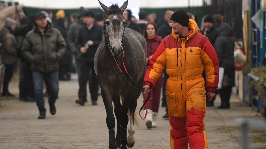
[[[235,68],[234,68],[234,38],[233,28],[227,24],[222,23],[219,30],[214,48],[219,60],[219,67],[224,68],[224,75],[228,76],[228,86],[220,89],[221,105],[219,109],[230,108],[230,97],[232,87],[235,86]]]

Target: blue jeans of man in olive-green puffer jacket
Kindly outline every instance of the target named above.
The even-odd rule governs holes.
[[[59,93],[58,71],[48,73],[33,71],[32,77],[34,83],[34,95],[36,98],[37,106],[39,108],[39,112],[46,113],[43,97],[43,81],[45,79],[46,87],[49,90],[48,103],[49,105],[53,105]]]

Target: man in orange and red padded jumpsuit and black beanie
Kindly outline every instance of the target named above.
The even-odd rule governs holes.
[[[165,37],[150,60],[144,79],[145,93],[150,92],[167,66],[171,149],[187,149],[188,144],[190,149],[206,149],[206,91],[202,72],[205,70],[207,100],[211,101],[218,87],[218,58],[208,38],[197,33],[196,22],[188,18],[185,10],[174,12],[170,20],[172,34]]]

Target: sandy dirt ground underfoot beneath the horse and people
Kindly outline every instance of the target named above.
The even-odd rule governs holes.
[[[60,81],[56,115],[49,113],[47,98],[46,119],[37,119],[39,113],[34,102],[18,100],[18,81],[10,84],[10,92],[16,98],[1,98],[0,106],[0,148],[40,148],[40,149],[103,149],[108,148],[109,135],[106,126],[106,112],[101,96],[98,105],[92,106],[90,99],[85,106],[75,103],[78,92],[76,74],[71,81]],[[137,113],[142,106],[142,96],[138,99]],[[231,149],[240,147],[240,131],[236,118],[261,120],[260,113],[247,106],[236,95],[231,97],[231,109],[217,109],[220,97],[214,107],[208,107],[205,130],[209,148]],[[139,115],[139,126],[135,126],[135,149],[169,149],[170,125],[162,118],[165,108],[160,107],[157,128],[147,129]],[[264,121],[263,121],[264,122]],[[265,130],[249,131],[251,148],[266,148]]]

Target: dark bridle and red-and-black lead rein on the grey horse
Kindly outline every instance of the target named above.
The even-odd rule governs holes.
[[[120,11],[115,11],[115,12],[113,12],[113,13],[116,13],[116,12],[122,14],[122,12],[120,12]],[[109,40],[109,37],[108,37],[107,31],[106,31],[106,27],[105,27],[105,24],[106,24],[105,18],[106,18],[107,15],[108,15],[108,14],[106,14],[105,17],[104,17],[103,32],[104,32],[104,36],[105,36],[105,38],[106,38],[106,40],[107,40],[107,43],[108,43],[109,52],[112,52],[112,43],[111,43],[110,40]],[[122,15],[123,15],[123,14],[122,14]],[[127,77],[125,76],[125,74],[122,72],[122,70],[121,70],[120,67],[118,66],[118,64],[117,64],[117,62],[116,62],[114,56],[113,56],[113,58],[114,58],[114,61],[115,61],[116,65],[117,65],[117,67],[119,68],[120,72],[122,73],[123,77],[127,80],[127,82],[128,82],[132,87],[134,87],[135,89],[144,92],[144,90],[145,90],[144,87],[140,86],[140,85],[139,85],[139,84],[138,84],[138,83],[137,83],[137,82],[136,82],[136,81],[130,76],[130,74],[127,72],[127,69],[126,69],[125,64],[124,64],[125,50],[123,49],[123,42],[124,42],[125,32],[126,32],[126,23],[124,23],[124,34],[123,34],[123,36],[122,36],[122,40],[121,40],[121,46],[122,46],[122,52],[123,52],[122,62],[123,62],[124,70],[125,70],[125,72],[126,72],[126,74],[127,74],[127,77],[129,77],[130,80],[131,80],[136,86],[131,84],[131,82],[127,79]],[[143,119],[143,120],[146,118],[146,116],[147,116],[147,111],[148,111],[148,110],[146,110],[146,114],[145,114],[144,118],[141,117],[140,112],[141,112],[142,108],[144,107],[144,105],[145,105],[146,103],[147,103],[147,105],[148,105],[149,100],[150,100],[150,95],[151,95],[151,92],[149,92],[149,95],[148,95],[147,99],[144,101],[143,105],[141,106],[141,108],[140,108],[140,110],[139,110],[139,116],[140,116],[140,118]]]

